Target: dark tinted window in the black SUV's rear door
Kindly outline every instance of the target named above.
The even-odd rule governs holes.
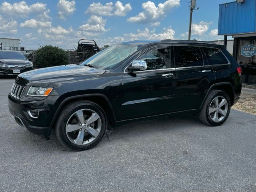
[[[191,67],[204,65],[199,47],[174,46],[175,67]]]

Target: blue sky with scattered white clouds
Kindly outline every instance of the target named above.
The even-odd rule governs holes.
[[[192,39],[217,40],[219,4],[197,0]],[[187,39],[189,0],[52,0],[0,3],[0,37],[20,38],[37,48],[52,44],[74,49],[80,38],[99,46],[136,39]]]

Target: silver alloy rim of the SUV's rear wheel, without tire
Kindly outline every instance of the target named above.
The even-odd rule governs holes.
[[[228,112],[228,102],[223,96],[215,97],[209,108],[210,118],[214,122],[220,122],[223,120]]]

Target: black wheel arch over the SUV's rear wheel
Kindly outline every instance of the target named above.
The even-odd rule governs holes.
[[[202,106],[204,104],[204,101],[206,100],[210,90],[213,90],[213,89],[221,90],[221,91],[225,92],[230,98],[231,106],[234,104],[234,92],[235,92],[235,90],[234,90],[232,84],[230,82],[221,82],[221,83],[212,84],[210,86],[206,95],[204,96],[204,100],[203,100],[203,102],[200,106],[200,109],[202,108]]]

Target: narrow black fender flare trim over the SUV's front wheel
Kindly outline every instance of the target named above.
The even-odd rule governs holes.
[[[64,104],[66,102],[68,102],[69,100],[75,99],[75,98],[84,98],[84,99],[86,99],[86,97],[92,97],[92,96],[100,96],[100,97],[104,98],[104,100],[107,102],[107,104],[110,108],[110,111],[112,112],[114,122],[116,122],[116,115],[114,113],[114,109],[113,109],[110,101],[108,100],[108,98],[104,94],[95,93],[95,94],[82,94],[82,95],[76,95],[76,96],[69,96],[69,97],[65,98],[64,100],[62,100],[62,102],[60,103],[60,105],[58,106],[58,109],[56,110],[56,112],[54,114],[54,117],[52,118],[52,122],[51,122],[50,126],[53,127],[54,122],[56,121],[56,119],[57,119],[57,117],[60,113],[60,110],[62,109],[62,107],[64,106]]]

